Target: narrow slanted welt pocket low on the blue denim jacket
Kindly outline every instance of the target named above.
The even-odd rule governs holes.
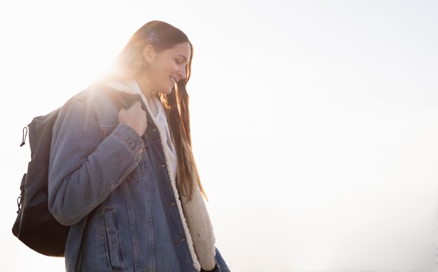
[[[114,210],[104,210],[104,229],[106,254],[112,270],[120,270],[120,245],[118,241],[117,226],[115,224]]]

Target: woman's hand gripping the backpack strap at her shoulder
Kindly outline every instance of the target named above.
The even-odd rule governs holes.
[[[141,108],[140,101],[133,103],[127,110],[122,108],[118,113],[118,118],[120,124],[127,124],[140,136],[143,136],[148,127],[146,111]]]

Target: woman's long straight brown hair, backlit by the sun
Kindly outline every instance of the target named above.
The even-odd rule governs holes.
[[[188,37],[183,31],[171,24],[161,21],[147,22],[132,35],[125,48],[115,58],[113,71],[109,73],[106,80],[127,80],[144,73],[142,50],[147,44],[153,45],[156,52],[162,52],[185,42],[190,43]],[[175,143],[178,160],[178,189],[181,194],[188,196],[189,200],[192,199],[196,185],[199,186],[200,191],[207,199],[193,157],[190,136],[189,96],[185,86],[190,79],[193,57],[192,43],[190,43],[190,51],[190,60],[185,68],[186,78],[179,80],[170,94],[157,94],[166,110],[171,136]]]

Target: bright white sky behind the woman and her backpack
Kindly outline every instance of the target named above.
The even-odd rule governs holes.
[[[232,271],[437,271],[437,1],[0,2],[0,267],[62,271],[13,236],[22,127],[149,20],[195,45],[195,157]]]

